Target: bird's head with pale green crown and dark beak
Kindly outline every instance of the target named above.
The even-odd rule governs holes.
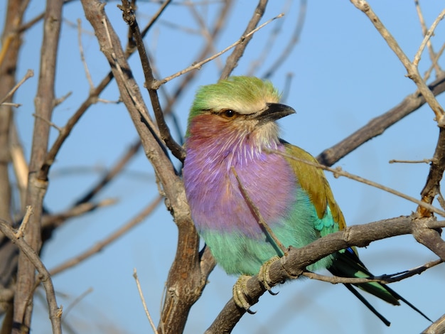
[[[275,121],[295,112],[279,99],[272,83],[257,77],[229,77],[200,87],[188,117],[186,136],[201,140],[247,136],[255,146],[278,141]]]

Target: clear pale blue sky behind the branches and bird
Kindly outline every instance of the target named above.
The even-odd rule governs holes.
[[[291,1],[270,1],[262,22],[281,13],[287,2]],[[4,17],[6,1],[0,0],[0,4],[0,16]],[[106,10],[114,28],[125,41],[127,27],[116,4],[109,2]],[[162,77],[193,63],[202,45],[202,38],[193,33],[199,28],[191,11],[181,4],[182,1],[173,1],[146,38],[146,45],[156,58],[156,67]],[[257,1],[237,1],[230,21],[225,24],[225,32],[215,45],[217,50],[239,38],[256,4]],[[370,4],[412,59],[422,41],[414,1],[375,0]],[[442,1],[422,1],[421,5],[427,25],[444,7]],[[139,4],[141,26],[158,6],[148,2]],[[29,20],[41,11],[43,1],[31,1],[26,18]],[[217,11],[218,3],[200,7],[206,22],[215,20]],[[294,1],[282,18],[283,30],[277,43],[270,48],[267,60],[255,75],[263,75],[281,53],[298,14],[299,1]],[[109,71],[80,2],[66,5],[63,15],[65,21],[61,33],[56,95],[60,97],[68,92],[73,92],[73,95],[55,109],[53,122],[58,126],[65,124],[89,90],[80,63],[75,28],[77,18],[82,20],[85,32],[82,43],[95,84]],[[277,24],[280,24],[279,20],[255,35],[245,58],[233,74],[247,73],[252,60],[262,53],[265,41]],[[439,24],[436,36],[431,40],[435,50],[444,43],[444,27],[444,22]],[[186,31],[186,28],[191,31]],[[27,156],[31,147],[41,35],[41,23],[26,34],[18,68],[18,77],[23,76],[28,68],[36,72],[36,76],[28,80],[16,95],[16,102],[22,106],[16,110],[15,116]],[[224,55],[222,60],[204,65],[191,90],[181,96],[175,109],[181,131],[186,129],[188,108],[196,87],[218,80],[218,62],[224,62],[226,57]],[[422,73],[430,63],[427,53],[424,53],[420,63]],[[132,58],[131,64],[134,75],[142,83],[136,57]],[[444,61],[441,64],[445,65]],[[289,73],[293,79],[284,102],[294,107],[297,114],[282,120],[282,136],[313,155],[336,144],[416,90],[414,83],[404,76],[406,71],[400,61],[368,18],[349,1],[309,2],[301,40],[271,80],[282,90]],[[173,92],[179,81],[168,82],[166,90]],[[101,97],[110,100],[119,97],[114,82]],[[444,97],[439,97],[442,105],[444,101]],[[388,161],[431,158],[439,131],[433,118],[433,112],[422,107],[382,136],[343,158],[336,166],[419,198],[428,174],[427,164],[389,164]],[[53,131],[51,139],[55,136]],[[100,178],[100,171],[112,166],[134,139],[136,132],[123,104],[96,104],[90,108],[55,161],[45,205],[53,212],[70,208]],[[414,203],[368,185],[345,178],[335,179],[331,175],[328,178],[349,225],[409,215],[416,209]],[[43,250],[45,265],[51,269],[104,239],[134,217],[156,195],[153,171],[141,151],[124,174],[99,196],[99,199],[117,198],[119,203],[70,220],[60,227]],[[164,282],[176,250],[176,237],[171,215],[160,205],[148,219],[118,242],[55,276],[58,303],[63,304],[65,313],[68,313],[65,320],[74,328],[72,333],[150,333],[132,277],[133,269],[139,273],[147,306],[157,324]],[[436,259],[411,236],[374,242],[367,249],[360,249],[360,255],[375,274],[391,274]],[[444,313],[444,308],[439,307],[443,306],[445,298],[444,274],[444,266],[439,266],[421,276],[392,284],[392,288],[436,320]],[[203,333],[208,328],[229,300],[235,280],[236,277],[227,276],[219,268],[213,271],[202,298],[192,308],[186,333]],[[68,311],[70,304],[88,289],[92,292]],[[372,304],[392,322],[391,327],[386,328],[341,285],[306,279],[274,290],[280,292],[278,296],[263,296],[253,306],[257,313],[244,316],[234,333],[419,333],[429,325],[405,305],[390,306],[370,296]],[[36,300],[33,333],[49,333],[43,289],[39,290],[39,294],[41,298]],[[67,330],[66,333],[70,332]]]

